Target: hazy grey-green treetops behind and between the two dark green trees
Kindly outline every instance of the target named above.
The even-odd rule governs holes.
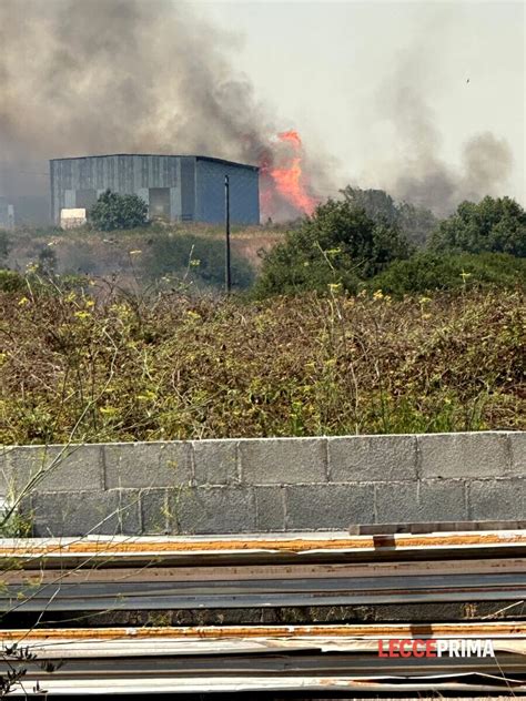
[[[361,190],[347,185],[341,192],[346,202],[365,210],[375,222],[397,226],[415,245],[424,245],[437,225],[433,212],[408,202],[397,204],[384,190]]]

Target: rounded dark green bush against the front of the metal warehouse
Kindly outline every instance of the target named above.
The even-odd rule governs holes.
[[[88,220],[101,231],[145,226],[148,205],[139,195],[121,195],[107,190],[89,210]]]

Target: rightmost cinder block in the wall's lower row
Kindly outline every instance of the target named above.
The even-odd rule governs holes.
[[[469,518],[522,519],[526,515],[526,479],[475,480],[468,487]]]

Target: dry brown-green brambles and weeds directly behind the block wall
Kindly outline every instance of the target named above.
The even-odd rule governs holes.
[[[0,441],[526,428],[524,292],[0,294]]]

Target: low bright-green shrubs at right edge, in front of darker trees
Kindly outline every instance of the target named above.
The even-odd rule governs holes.
[[[437,289],[514,288],[518,285],[526,285],[526,261],[505,253],[417,253],[406,261],[392,263],[368,282],[367,288],[403,296]]]

